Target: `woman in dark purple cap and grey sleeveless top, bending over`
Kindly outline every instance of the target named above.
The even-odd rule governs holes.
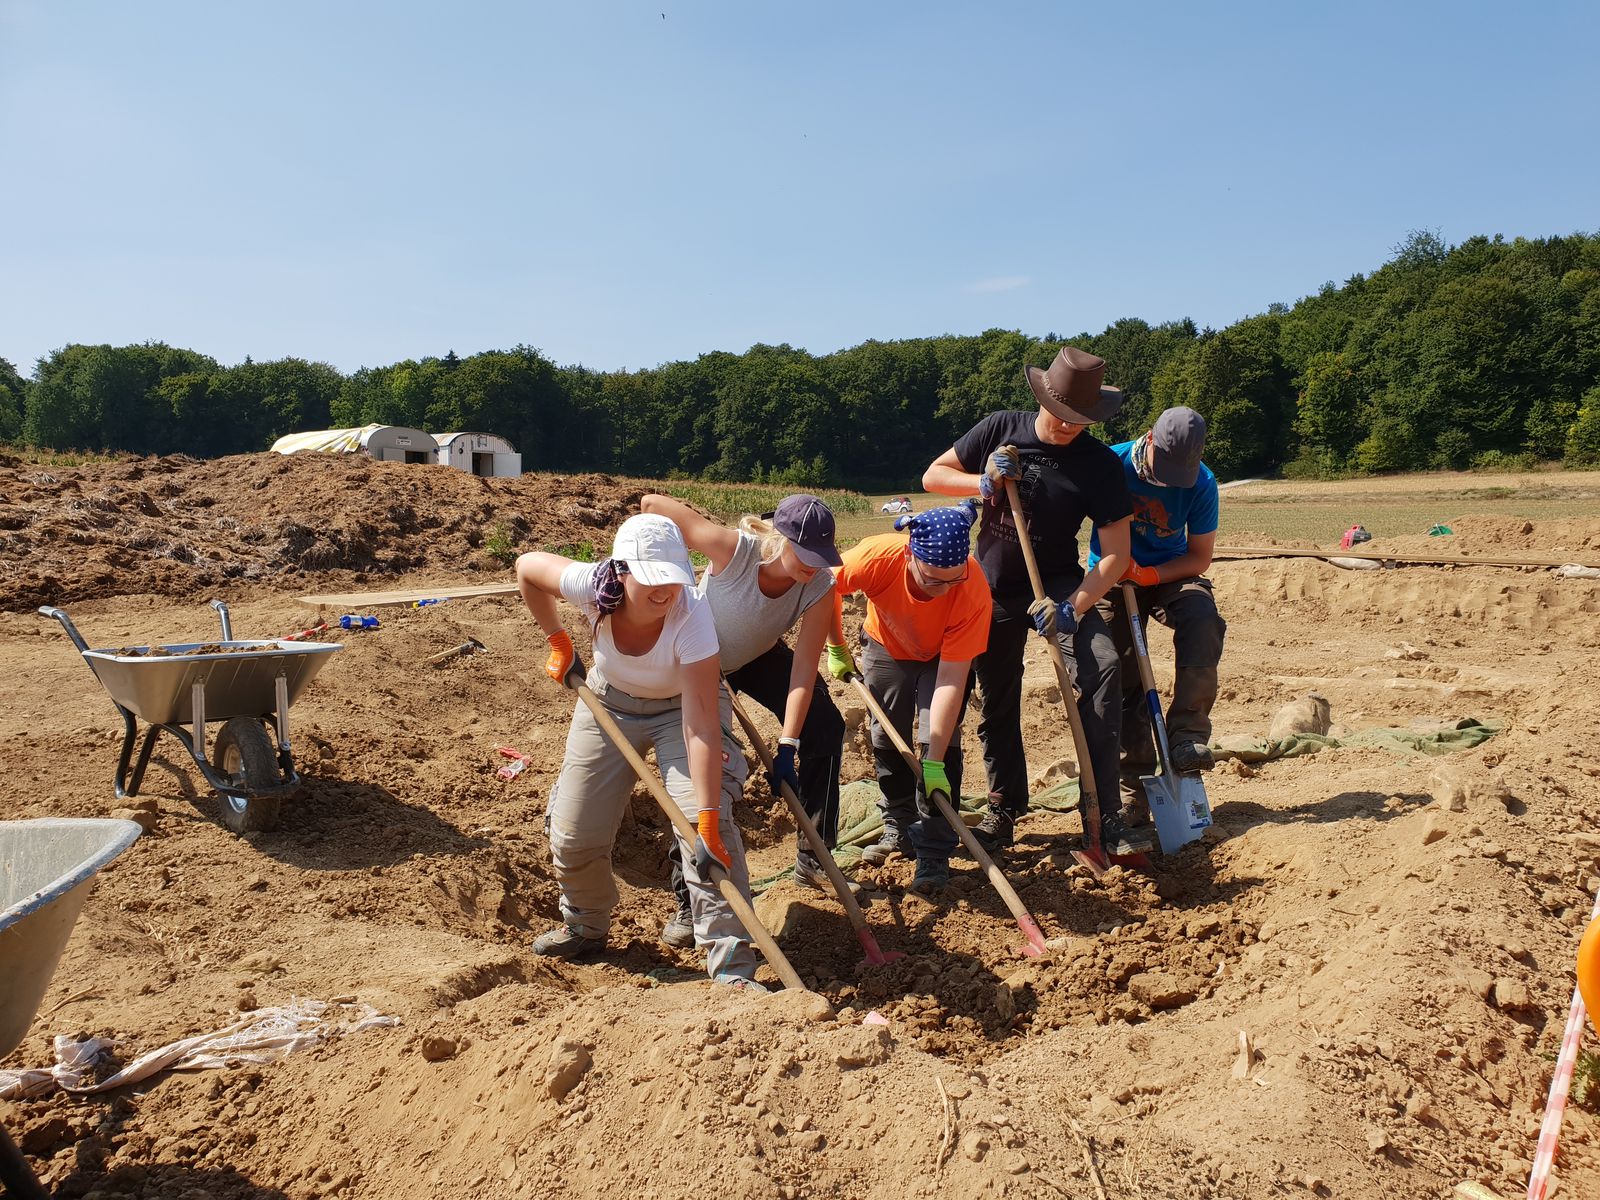
[[[640,509],[670,518],[691,550],[709,560],[701,590],[717,622],[728,686],[782,722],[773,755],[773,795],[789,784],[822,840],[838,835],[838,765],[845,718],[816,670],[827,640],[834,592],[830,568],[843,562],[834,546],[834,514],[816,496],[786,496],[771,520],[744,517],[736,530],[702,517],[670,496],[645,496]],[[784,635],[797,629],[794,650]],[[798,758],[798,763],[797,763]],[[795,854],[795,880],[826,891],[822,862],[811,846]],[[669,946],[688,946],[688,893],[674,864],[678,912],[661,931]]]

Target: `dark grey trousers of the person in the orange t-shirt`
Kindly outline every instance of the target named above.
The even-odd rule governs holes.
[[[899,736],[917,750],[920,758],[926,758],[931,730],[930,707],[939,675],[939,659],[917,662],[915,659],[894,658],[872,638],[864,637],[862,642],[866,642],[861,653],[862,678],[872,688],[872,694]],[[966,699],[971,693],[973,674],[968,670],[962,707],[955,714],[950,744],[944,750],[944,774],[950,779],[950,792],[954,792],[950,803],[957,810],[962,803],[962,718],[966,715]],[[917,723],[915,733],[912,733],[914,720]],[[883,810],[883,824],[896,826],[909,834],[917,858],[950,858],[957,842],[950,822],[923,794],[917,774],[878,725],[877,717],[872,718],[870,733],[872,762],[878,768],[878,787],[883,790],[883,798],[878,802]]]

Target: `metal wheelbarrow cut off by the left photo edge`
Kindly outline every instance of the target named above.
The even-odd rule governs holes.
[[[34,1024],[94,872],[138,837],[133,821],[0,821],[0,1056]],[[45,1195],[5,1130],[0,1184],[6,1195]]]

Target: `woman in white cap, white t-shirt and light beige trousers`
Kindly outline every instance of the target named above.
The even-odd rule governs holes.
[[[717,630],[710,605],[694,590],[682,531],[666,517],[629,517],[605,562],[525,554],[517,560],[517,586],[550,638],[546,672],[560,683],[582,664],[562,626],[557,597],[589,619],[595,656],[589,688],[634,749],[643,754],[654,746],[667,794],[696,821],[694,845],[680,842],[678,851],[707,974],[757,987],[755,952],[709,874],[717,859],[749,894],[744,846],[733,822],[733,802],[744,792],[744,754],[725,733],[733,714],[718,698]],[[578,704],[546,811],[563,923],[534,939],[534,954],[578,958],[605,949],[618,901],[611,846],[632,787],[632,766],[594,714]]]

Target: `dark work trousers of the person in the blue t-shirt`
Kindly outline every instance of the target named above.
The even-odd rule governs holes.
[[[1227,622],[1216,611],[1211,581],[1205,576],[1173,579],[1155,587],[1136,587],[1139,621],[1146,645],[1150,621],[1173,630],[1173,702],[1166,706],[1170,742],[1211,741],[1211,706],[1216,704],[1216,667],[1222,661],[1222,637]],[[1139,776],[1155,771],[1155,734],[1150,709],[1139,678],[1139,662],[1133,653],[1133,634],[1117,584],[1098,610],[1110,626],[1122,664],[1122,779],[1130,795],[1139,790]]]

